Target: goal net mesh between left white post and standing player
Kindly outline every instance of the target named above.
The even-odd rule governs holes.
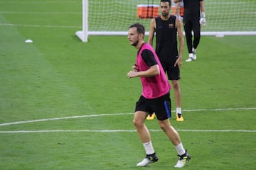
[[[137,19],[138,4],[148,4],[148,1],[105,0],[99,3],[89,0],[89,31],[127,31],[127,28],[136,22],[143,23],[146,27],[150,20]]]

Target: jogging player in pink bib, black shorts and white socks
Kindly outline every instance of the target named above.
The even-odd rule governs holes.
[[[191,157],[183,148],[178,132],[169,121],[171,117],[169,95],[171,86],[153,47],[144,42],[144,35],[145,28],[141,24],[136,23],[129,27],[127,38],[130,45],[136,47],[138,52],[136,64],[127,73],[127,77],[140,77],[142,81],[142,96],[136,103],[133,123],[144,146],[146,157],[137,166],[146,166],[158,161],[149,130],[144,123],[147,115],[155,113],[161,129],[178,152],[178,162],[174,167],[182,168]]]

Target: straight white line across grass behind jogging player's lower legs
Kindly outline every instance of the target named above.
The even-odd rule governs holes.
[[[161,132],[162,130],[149,130]],[[177,130],[178,132],[256,132],[256,130]],[[16,130],[0,133],[42,133],[42,132],[136,132],[136,130]]]

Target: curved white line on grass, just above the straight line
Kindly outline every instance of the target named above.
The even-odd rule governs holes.
[[[256,110],[256,108],[213,108],[213,109],[193,109],[193,110],[182,110],[183,112],[201,112],[201,111],[238,111],[238,110]],[[175,112],[175,111],[171,111]],[[36,123],[36,122],[45,122],[50,120],[64,120],[64,119],[73,119],[73,118],[92,118],[92,117],[102,117],[102,116],[110,116],[110,115],[132,115],[134,113],[108,113],[108,114],[98,114],[98,115],[75,115],[75,116],[67,116],[63,118],[44,118],[38,120],[25,120],[25,121],[18,121],[12,123],[1,123],[0,126],[6,125],[17,125],[22,123]]]

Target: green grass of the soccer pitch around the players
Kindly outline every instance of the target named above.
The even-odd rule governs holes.
[[[132,125],[141,84],[127,78],[137,50],[126,36],[82,43],[80,16],[26,13],[33,5],[68,11],[80,1],[0,2],[0,11],[24,12],[0,13],[0,169],[173,169],[176,150],[156,120],[146,125],[159,130],[151,132],[159,162],[136,167],[144,157]],[[192,157],[184,169],[255,169],[255,52],[255,36],[203,36],[196,62],[185,62],[185,48],[185,121],[171,119]]]

